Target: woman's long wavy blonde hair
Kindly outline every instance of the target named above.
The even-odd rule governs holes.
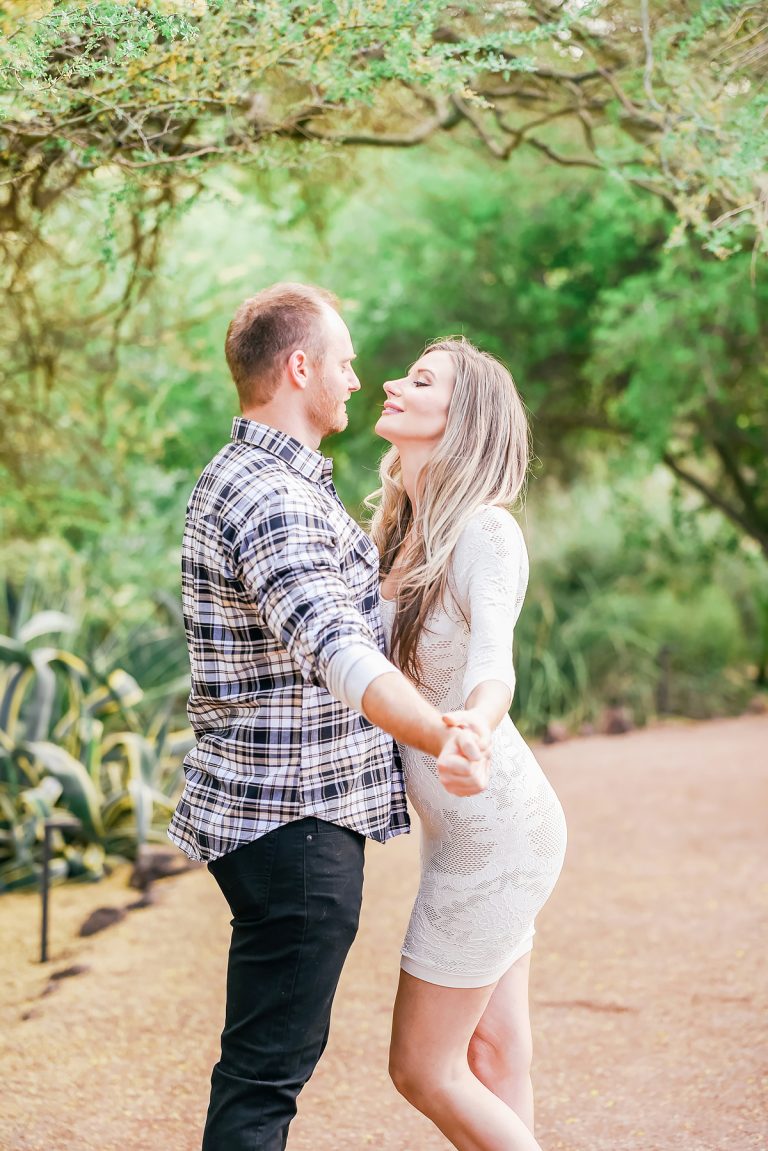
[[[509,505],[519,498],[530,459],[527,416],[504,365],[463,336],[436,340],[426,348],[433,351],[448,352],[456,382],[446,432],[418,479],[418,514],[403,487],[394,447],[381,459],[381,487],[366,500],[382,576],[411,533],[400,566],[391,656],[417,684],[419,637],[429,612],[444,602],[462,531],[484,504]]]

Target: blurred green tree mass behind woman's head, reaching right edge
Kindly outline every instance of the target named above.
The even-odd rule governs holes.
[[[514,368],[549,470],[595,448],[663,460],[768,555],[768,283],[751,254],[676,241],[671,213],[617,182],[523,165],[511,189],[455,152],[389,175],[332,244],[368,374],[464,331]],[[355,409],[362,448],[377,403]]]

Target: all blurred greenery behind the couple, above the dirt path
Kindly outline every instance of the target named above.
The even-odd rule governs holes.
[[[363,390],[463,333],[535,462],[531,737],[765,706],[768,46],[758,3],[5,3],[0,890],[162,840],[189,746],[178,551],[222,345],[342,299]]]

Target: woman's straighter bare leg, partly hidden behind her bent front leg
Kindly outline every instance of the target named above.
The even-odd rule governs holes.
[[[530,969],[531,952],[518,959],[496,984],[470,1039],[469,1064],[480,1082],[532,1131]]]

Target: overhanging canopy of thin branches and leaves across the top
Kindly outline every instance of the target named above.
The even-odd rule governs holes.
[[[105,165],[167,189],[178,168],[279,163],[280,142],[463,127],[499,160],[621,171],[724,251],[745,223],[765,233],[763,17],[733,0],[12,2],[5,224]]]

